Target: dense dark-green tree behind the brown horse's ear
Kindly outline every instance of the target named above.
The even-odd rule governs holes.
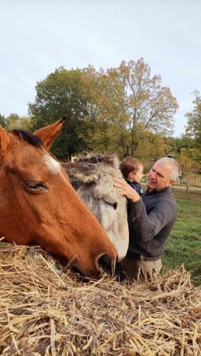
[[[36,83],[36,100],[29,104],[32,130],[66,116],[63,131],[52,147],[57,157],[71,159],[71,155],[91,148],[88,97],[84,70],[60,67]]]

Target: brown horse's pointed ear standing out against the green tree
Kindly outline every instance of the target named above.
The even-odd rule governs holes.
[[[56,139],[56,136],[61,131],[65,120],[66,118],[63,117],[63,119],[54,122],[52,125],[42,127],[41,129],[35,131],[34,135],[41,137],[41,140],[43,140],[43,144],[46,148],[50,148]]]

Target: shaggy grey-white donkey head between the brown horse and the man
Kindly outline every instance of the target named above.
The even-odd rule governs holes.
[[[117,154],[88,155],[75,163],[63,164],[79,196],[96,216],[118,250],[118,260],[128,250],[128,222],[125,197],[113,187],[114,178],[122,177]]]

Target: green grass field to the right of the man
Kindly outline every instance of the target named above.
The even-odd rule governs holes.
[[[163,265],[175,268],[183,263],[192,272],[195,284],[201,283],[201,191],[174,189],[178,216],[166,241]]]

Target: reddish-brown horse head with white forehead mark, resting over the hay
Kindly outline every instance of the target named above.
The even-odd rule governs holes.
[[[63,120],[35,135],[0,126],[0,237],[41,245],[85,276],[110,269],[117,251],[48,152]]]

